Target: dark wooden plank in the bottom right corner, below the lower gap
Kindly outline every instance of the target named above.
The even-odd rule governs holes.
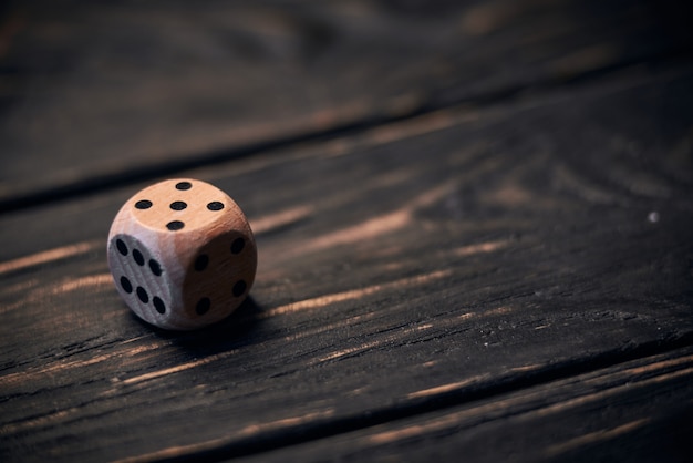
[[[692,379],[685,348],[246,461],[686,462]]]

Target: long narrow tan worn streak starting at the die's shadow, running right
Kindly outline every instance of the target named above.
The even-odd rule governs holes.
[[[360,299],[365,296],[373,295],[375,292],[396,289],[402,287],[408,287],[410,285],[424,285],[431,281],[435,281],[445,278],[452,274],[452,270],[438,270],[431,274],[420,275],[411,278],[402,278],[395,281],[390,281],[380,285],[369,286],[366,288],[351,289],[349,291],[335,292],[332,295],[319,296],[312,299],[306,299],[298,302],[288,303],[286,306],[279,306],[273,309],[267,310],[259,315],[260,318],[269,318],[277,315],[285,315],[297,312],[300,310],[319,309],[330,306],[335,302],[342,302],[345,300]]]

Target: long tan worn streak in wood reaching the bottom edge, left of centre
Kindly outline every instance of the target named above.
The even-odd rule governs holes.
[[[220,446],[229,445],[234,441],[252,438],[257,434],[266,432],[277,432],[285,429],[290,429],[313,420],[324,420],[334,415],[334,409],[321,410],[314,413],[307,413],[301,416],[286,418],[282,420],[271,421],[269,423],[250,424],[241,429],[238,433],[234,433],[224,438],[213,439],[205,442],[199,442],[189,445],[176,445],[167,449],[162,449],[156,452],[136,455],[123,460],[116,460],[114,463],[137,463],[149,462],[165,459],[179,457],[184,455],[190,455],[195,453],[204,452],[207,450],[218,449]]]

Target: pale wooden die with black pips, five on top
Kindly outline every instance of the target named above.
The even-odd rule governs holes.
[[[252,230],[238,205],[205,182],[172,179],[130,198],[108,234],[115,286],[143,320],[192,330],[231,313],[257,268]]]

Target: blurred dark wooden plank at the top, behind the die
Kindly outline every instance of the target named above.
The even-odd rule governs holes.
[[[687,59],[693,39],[679,9],[536,0],[21,2],[0,27],[0,206]]]

